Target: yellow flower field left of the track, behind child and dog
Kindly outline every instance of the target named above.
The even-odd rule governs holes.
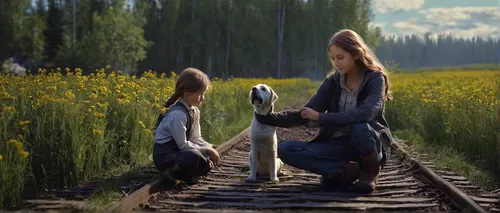
[[[105,69],[89,76],[79,69],[0,76],[0,204],[16,206],[23,192],[86,181],[119,165],[151,163],[153,126],[175,78]],[[203,137],[214,144],[250,124],[254,84],[276,90],[277,109],[317,86],[307,79],[212,83],[200,111]]]

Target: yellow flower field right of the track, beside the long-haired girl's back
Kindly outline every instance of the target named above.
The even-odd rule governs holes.
[[[495,171],[499,77],[498,71],[392,74],[389,125],[393,131],[415,131],[426,143],[449,147]]]

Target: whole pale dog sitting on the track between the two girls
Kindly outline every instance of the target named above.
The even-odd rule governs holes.
[[[272,112],[277,99],[278,95],[266,84],[257,84],[250,91],[250,103],[259,115]],[[254,117],[250,125],[250,144],[250,174],[245,181],[256,182],[257,177],[269,176],[270,181],[278,182],[283,162],[278,158],[276,127],[259,123]]]

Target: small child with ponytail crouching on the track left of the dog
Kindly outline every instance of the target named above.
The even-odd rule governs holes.
[[[219,153],[201,137],[200,110],[210,79],[195,68],[185,69],[176,81],[168,108],[160,115],[154,134],[153,161],[165,182],[196,184],[219,164]],[[172,105],[173,104],[173,105]]]

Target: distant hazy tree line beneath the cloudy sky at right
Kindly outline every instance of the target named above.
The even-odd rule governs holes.
[[[401,68],[500,65],[500,38],[457,38],[431,33],[424,36],[383,37],[376,53],[381,61],[394,61]]]

